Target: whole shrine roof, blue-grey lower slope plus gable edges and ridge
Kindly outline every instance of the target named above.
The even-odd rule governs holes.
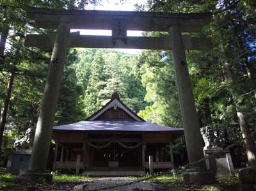
[[[99,121],[97,118],[108,111],[109,108],[115,110],[115,107],[122,109],[129,116],[131,116],[134,121],[121,121],[118,119],[104,121]],[[92,116],[87,118],[85,121],[79,121],[77,123],[71,123],[67,125],[53,126],[54,131],[87,131],[87,132],[165,132],[171,133],[173,140],[181,137],[184,132],[183,128],[175,128],[170,126],[156,125],[154,123],[149,123],[144,121],[136,113],[132,112],[119,98],[117,93],[112,95],[111,100],[104,105],[99,111],[95,112]]]

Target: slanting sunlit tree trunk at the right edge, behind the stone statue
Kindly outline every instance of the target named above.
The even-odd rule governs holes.
[[[225,63],[225,67],[227,70],[227,75],[228,78],[230,80],[232,80],[232,83],[234,82],[234,75],[232,73],[232,70],[230,68],[230,65],[228,63]],[[242,132],[242,136],[243,136],[243,141],[244,141],[244,145],[246,148],[246,155],[248,158],[248,164],[250,166],[254,166],[256,167],[256,151],[255,151],[255,146],[254,146],[254,142],[251,136],[251,132],[250,132],[250,126],[248,125],[248,123],[246,122],[246,116],[244,116],[244,113],[241,109],[241,106],[239,105],[239,103],[237,102],[237,98],[235,95],[232,95],[235,105],[236,105],[236,113],[237,113],[237,118],[239,121],[239,125],[240,125],[240,129]]]

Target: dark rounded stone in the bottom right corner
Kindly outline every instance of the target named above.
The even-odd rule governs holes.
[[[240,169],[238,172],[238,178],[243,184],[256,184],[256,168],[246,167]]]

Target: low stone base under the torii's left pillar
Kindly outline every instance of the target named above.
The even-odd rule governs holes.
[[[51,183],[52,174],[49,171],[25,171],[20,174],[20,180],[28,183]]]

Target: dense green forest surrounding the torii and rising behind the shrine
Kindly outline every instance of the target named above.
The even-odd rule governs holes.
[[[36,126],[51,57],[51,52],[24,47],[26,34],[52,32],[32,27],[24,10],[28,6],[83,9],[88,3],[99,2],[1,1],[1,165],[6,164],[13,150],[15,135],[22,137],[28,127]],[[243,154],[237,165],[245,165],[245,153],[255,153],[255,1],[148,0],[147,4],[137,4],[136,10],[212,12],[211,24],[192,35],[211,37],[214,48],[186,52],[196,110],[200,125],[224,132],[226,146],[234,144],[234,149]],[[69,49],[54,124],[86,119],[116,91],[141,118],[182,127],[172,65],[169,50],[127,54],[106,49]],[[179,141],[174,151],[176,155],[184,154],[184,141]]]

